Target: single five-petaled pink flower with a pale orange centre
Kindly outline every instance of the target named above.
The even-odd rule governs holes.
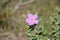
[[[26,18],[26,23],[28,23],[28,25],[38,24],[37,18],[37,15],[28,14],[28,17]]]

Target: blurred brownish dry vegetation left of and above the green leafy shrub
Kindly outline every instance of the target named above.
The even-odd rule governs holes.
[[[0,0],[0,40],[27,40],[27,11],[38,12],[38,16],[43,16],[43,21],[46,22],[49,21],[49,16],[54,14],[54,10],[60,8],[60,0],[26,1],[21,3],[21,0]],[[15,9],[16,6],[19,7]],[[19,26],[18,29],[16,25]],[[15,35],[16,32],[18,36]]]

